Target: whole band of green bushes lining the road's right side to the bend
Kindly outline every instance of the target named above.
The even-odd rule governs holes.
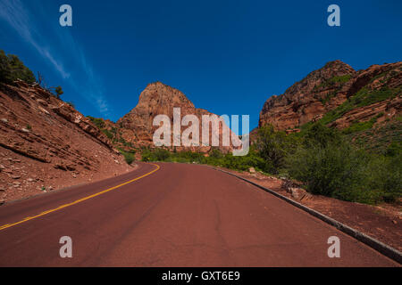
[[[264,126],[247,156],[213,150],[204,154],[165,149],[143,150],[143,161],[200,163],[246,171],[250,167],[269,175],[297,180],[307,191],[367,204],[396,202],[402,196],[402,156],[398,144],[376,153],[350,142],[337,129],[321,122],[298,134]]]

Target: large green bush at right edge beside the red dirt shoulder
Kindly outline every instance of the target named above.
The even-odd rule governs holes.
[[[402,196],[401,161],[400,154],[387,158],[348,142],[329,142],[299,147],[287,158],[287,170],[314,194],[375,204]]]

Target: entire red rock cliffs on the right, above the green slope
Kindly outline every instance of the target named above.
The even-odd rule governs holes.
[[[272,124],[278,130],[297,132],[298,126],[322,118],[363,88],[370,92],[384,87],[395,90],[402,85],[401,66],[402,62],[396,62],[356,71],[342,61],[328,62],[322,69],[314,70],[290,86],[284,94],[269,98],[260,112],[259,127]],[[349,110],[330,126],[345,128],[356,121],[370,120],[382,112],[388,118],[394,117],[400,113],[400,101],[399,95]]]

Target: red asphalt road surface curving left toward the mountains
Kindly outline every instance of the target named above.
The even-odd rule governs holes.
[[[158,164],[132,183],[0,230],[0,266],[398,266],[259,188],[214,169]],[[0,228],[155,169],[0,207]],[[62,258],[62,236],[72,258]],[[340,240],[340,258],[327,240]]]

